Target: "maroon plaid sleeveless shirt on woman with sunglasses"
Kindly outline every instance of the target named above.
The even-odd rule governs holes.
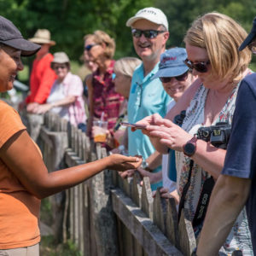
[[[119,117],[120,105],[124,101],[124,97],[114,90],[113,64],[114,61],[111,62],[102,80],[98,69],[92,78],[94,117],[100,119],[104,112],[104,120],[108,120],[108,129],[111,131]]]

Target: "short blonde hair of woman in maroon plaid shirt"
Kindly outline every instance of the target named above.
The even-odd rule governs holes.
[[[108,59],[112,59],[115,51],[115,42],[113,38],[110,38],[106,32],[101,30],[96,30],[93,34],[88,34],[84,36],[84,42],[92,38],[96,44],[106,44],[105,56]]]

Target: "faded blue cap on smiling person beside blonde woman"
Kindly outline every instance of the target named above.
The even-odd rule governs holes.
[[[160,55],[159,70],[151,79],[172,78],[182,75],[189,70],[184,61],[188,55],[184,48],[167,49]]]

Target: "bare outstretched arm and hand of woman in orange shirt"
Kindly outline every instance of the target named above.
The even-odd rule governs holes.
[[[48,173],[38,149],[26,130],[15,133],[7,143],[4,143],[0,148],[0,157],[20,183],[38,198],[68,189],[104,169],[136,169],[142,162],[138,157],[112,154],[102,160]]]

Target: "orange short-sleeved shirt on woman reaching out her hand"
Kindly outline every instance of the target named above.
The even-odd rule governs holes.
[[[25,130],[14,108],[0,101],[0,148]],[[32,246],[40,241],[40,200],[3,163],[0,154],[0,249]]]

